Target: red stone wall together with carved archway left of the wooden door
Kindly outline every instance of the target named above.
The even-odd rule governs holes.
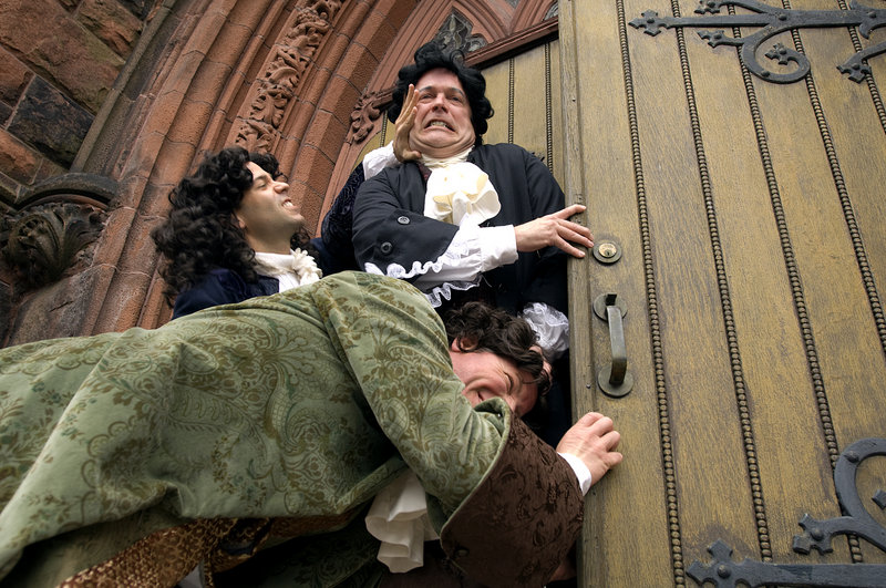
[[[150,233],[203,153],[277,155],[316,231],[419,45],[511,51],[556,32],[552,13],[556,0],[3,0],[0,345],[162,324]]]

